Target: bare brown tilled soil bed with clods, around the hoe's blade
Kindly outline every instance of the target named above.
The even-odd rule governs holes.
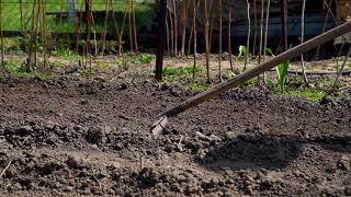
[[[351,107],[236,89],[152,136],[196,94],[146,79],[0,84],[2,196],[348,196]]]

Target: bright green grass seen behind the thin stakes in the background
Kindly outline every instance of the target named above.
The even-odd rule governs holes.
[[[83,0],[76,0],[76,10],[84,10],[82,4]],[[116,12],[117,21],[120,26],[123,21],[123,12],[127,7],[128,0],[114,1],[113,10]],[[136,1],[137,2],[137,1]],[[150,3],[137,3],[136,4],[136,24],[137,27],[148,24],[149,20],[155,18],[155,4]],[[26,30],[31,24],[31,14],[33,8],[33,0],[23,0],[23,23],[26,25]],[[92,4],[93,11],[104,11],[105,0],[94,0]],[[66,12],[68,11],[68,5],[66,0],[46,0],[46,12]],[[19,0],[5,0],[2,1],[2,28],[3,31],[21,31],[21,11]],[[56,33],[72,33],[75,32],[75,24],[69,19],[60,20],[56,15],[47,16],[47,27],[49,32]],[[94,19],[94,25],[92,26],[93,32],[102,32],[104,24],[104,19]],[[114,22],[109,20],[109,32],[114,32]],[[81,30],[84,30],[84,25],[81,25]],[[128,31],[126,26],[125,31]]]

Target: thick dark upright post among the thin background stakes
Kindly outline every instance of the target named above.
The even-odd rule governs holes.
[[[165,27],[166,27],[167,0],[159,0],[158,15],[158,47],[156,57],[155,79],[162,81],[163,50],[165,50]]]

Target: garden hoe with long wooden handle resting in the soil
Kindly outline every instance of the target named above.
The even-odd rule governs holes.
[[[154,135],[160,135],[162,134],[162,131],[165,130],[167,124],[168,124],[168,118],[169,117],[173,117],[193,106],[196,106],[210,99],[212,99],[213,96],[220,94],[229,89],[233,89],[244,82],[246,82],[247,80],[254,78],[261,73],[263,73],[264,71],[271,70],[272,68],[276,67],[278,65],[291,60],[293,58],[299,57],[302,54],[305,54],[316,47],[318,47],[319,45],[322,45],[327,42],[330,42],[339,36],[342,36],[347,33],[351,32],[351,22],[347,22],[342,25],[339,25],[324,34],[320,34],[309,40],[307,40],[306,43],[303,43],[294,48],[291,48],[278,56],[275,56],[274,58],[226,81],[223,83],[219,83],[217,85],[215,85],[214,88],[200,93],[186,101],[184,101],[183,103],[181,103],[180,105],[174,106],[173,108],[170,108],[163,113],[161,113],[158,117],[159,120],[157,120],[152,127],[151,127],[151,132]]]

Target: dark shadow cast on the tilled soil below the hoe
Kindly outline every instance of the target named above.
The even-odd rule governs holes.
[[[351,136],[306,139],[293,136],[240,135],[210,148],[199,162],[210,170],[284,169],[294,162],[306,144],[320,146],[335,152],[351,152]]]

